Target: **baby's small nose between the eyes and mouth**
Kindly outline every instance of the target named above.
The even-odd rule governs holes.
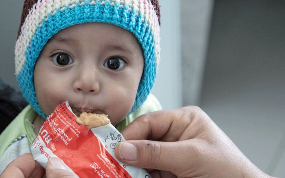
[[[78,72],[76,78],[73,84],[73,90],[75,92],[99,93],[99,74],[97,74],[95,70],[83,69]]]

